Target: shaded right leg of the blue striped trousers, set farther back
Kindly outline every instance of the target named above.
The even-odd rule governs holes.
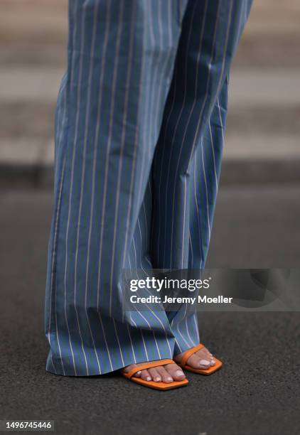
[[[151,259],[203,269],[218,190],[227,76],[252,1],[190,1],[153,167]],[[198,343],[196,314],[169,313],[175,353]]]

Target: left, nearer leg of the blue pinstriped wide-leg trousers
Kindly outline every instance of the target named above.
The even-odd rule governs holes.
[[[166,313],[124,316],[121,278],[171,83],[179,11],[173,0],[70,0],[45,297],[50,372],[97,375],[173,355]]]

